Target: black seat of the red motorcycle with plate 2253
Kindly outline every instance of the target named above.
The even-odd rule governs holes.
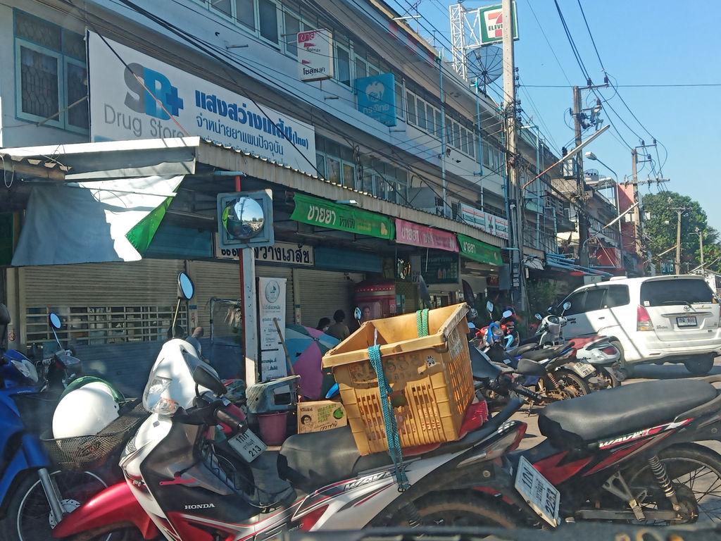
[[[557,447],[583,447],[672,421],[716,396],[715,387],[699,379],[634,383],[547,405],[539,431]]]

